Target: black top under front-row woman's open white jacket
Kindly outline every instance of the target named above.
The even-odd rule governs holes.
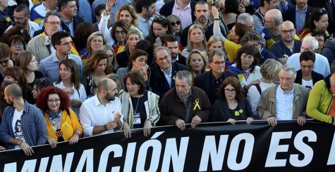
[[[132,110],[133,111],[133,119],[136,120],[136,114],[140,113],[141,123],[135,124],[133,123],[133,128],[143,128],[144,122],[147,120],[147,112],[145,110],[144,102],[148,100],[148,92],[145,92],[144,95],[140,98],[131,97]]]

